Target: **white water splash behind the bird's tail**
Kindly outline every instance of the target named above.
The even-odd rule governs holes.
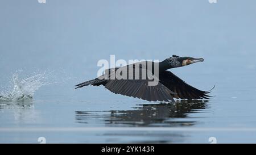
[[[47,72],[35,73],[34,75],[19,79],[19,73],[13,74],[12,85],[13,89],[2,91],[0,93],[0,100],[24,100],[32,99],[36,90],[41,86],[48,85]]]

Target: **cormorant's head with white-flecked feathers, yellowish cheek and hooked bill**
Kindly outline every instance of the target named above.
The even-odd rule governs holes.
[[[173,55],[170,58],[167,58],[168,64],[171,65],[171,68],[181,67],[181,66],[187,66],[190,64],[194,64],[196,62],[203,62],[203,58],[193,58],[193,57],[179,57],[176,55]]]

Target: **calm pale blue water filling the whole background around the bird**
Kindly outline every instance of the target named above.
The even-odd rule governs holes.
[[[255,5],[1,2],[0,143],[256,143]],[[147,102],[73,87],[110,55],[173,54],[205,59],[172,72],[201,90],[215,85],[212,99]]]

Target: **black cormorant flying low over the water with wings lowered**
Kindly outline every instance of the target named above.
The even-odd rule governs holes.
[[[174,98],[189,100],[209,99],[210,96],[207,94],[209,94],[211,90],[201,91],[199,89],[196,89],[195,87],[188,85],[179,77],[175,76],[174,73],[167,70],[203,61],[203,58],[179,57],[173,55],[172,57],[167,58],[162,62],[137,62],[127,66],[122,66],[120,68],[107,69],[105,70],[104,75],[90,81],[79,83],[78,85],[76,85],[76,89],[88,85],[103,85],[106,89],[112,91],[115,94],[122,94],[129,97],[141,98],[148,101],[159,100],[168,102],[170,100],[174,101]],[[151,62],[151,64],[148,62]],[[139,66],[139,69],[137,71],[135,69],[136,66]],[[155,73],[155,66],[158,66],[158,76]],[[129,72],[129,69],[133,69],[133,72]],[[116,75],[118,70],[121,76],[127,78],[122,79],[113,77],[114,75]],[[142,76],[142,73],[144,71],[147,71],[146,78],[143,78]],[[138,72],[139,74],[136,74]],[[124,73],[126,73],[127,75],[125,75]],[[150,76],[148,76],[148,73],[152,74],[151,78],[149,78]],[[158,79],[158,83],[156,85],[149,85],[149,82],[153,81],[152,78]]]

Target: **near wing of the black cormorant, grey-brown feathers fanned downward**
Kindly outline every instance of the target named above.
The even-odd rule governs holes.
[[[143,70],[141,68],[141,70]],[[139,74],[141,76],[141,74]],[[111,77],[111,76],[110,76]],[[149,101],[174,101],[174,92],[158,82],[154,86],[148,85],[150,79],[115,79],[110,78],[105,88],[115,94],[141,98]]]

